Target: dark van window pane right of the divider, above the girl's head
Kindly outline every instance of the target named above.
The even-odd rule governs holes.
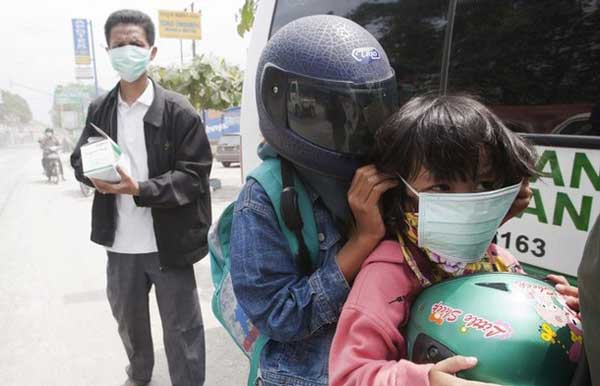
[[[448,89],[480,95],[516,131],[600,135],[599,6],[459,0]]]

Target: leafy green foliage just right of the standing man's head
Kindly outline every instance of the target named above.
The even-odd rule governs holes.
[[[205,55],[183,69],[151,67],[150,76],[163,87],[185,95],[194,108],[224,110],[239,106],[243,73],[239,67]]]

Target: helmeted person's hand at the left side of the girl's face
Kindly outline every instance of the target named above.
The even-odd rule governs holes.
[[[359,241],[374,247],[385,236],[379,200],[383,193],[397,185],[396,179],[379,173],[374,165],[356,171],[348,191],[348,204],[356,220],[353,236]]]

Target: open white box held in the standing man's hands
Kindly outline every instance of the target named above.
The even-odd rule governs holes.
[[[90,137],[89,143],[81,146],[83,175],[107,182],[119,182],[117,164],[121,158],[121,148],[98,126],[91,124],[100,136]]]

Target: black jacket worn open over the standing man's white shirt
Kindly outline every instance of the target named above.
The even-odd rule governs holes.
[[[134,201],[137,206],[152,208],[161,266],[182,267],[197,262],[208,251],[212,155],[198,112],[182,95],[152,83],[154,100],[144,116],[149,179],[139,181],[140,194]],[[117,141],[118,90],[117,85],[90,104],[85,128],[71,155],[75,177],[90,186],[91,181],[83,176],[80,148],[97,135],[90,123]],[[96,192],[92,241],[112,246],[116,222],[115,196]]]

